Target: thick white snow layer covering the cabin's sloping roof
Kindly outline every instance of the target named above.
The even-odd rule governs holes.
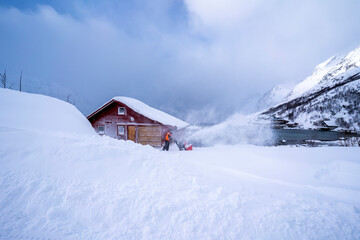
[[[190,125],[187,122],[184,122],[155,108],[152,108],[149,105],[134,98],[114,97],[112,100],[121,102],[133,109],[135,112],[140,113],[141,115],[148,117],[152,120],[158,121],[159,123],[162,123],[164,125],[175,126],[178,129],[185,128]]]

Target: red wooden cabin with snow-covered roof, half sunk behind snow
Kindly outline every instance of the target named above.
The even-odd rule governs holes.
[[[116,139],[161,147],[166,132],[188,123],[128,97],[114,97],[87,116],[95,131]]]

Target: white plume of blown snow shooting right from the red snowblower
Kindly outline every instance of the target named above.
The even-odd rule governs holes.
[[[254,123],[249,117],[234,114],[222,123],[204,127],[192,134],[188,141],[194,146],[215,145],[270,145],[273,143],[271,128],[265,124]]]

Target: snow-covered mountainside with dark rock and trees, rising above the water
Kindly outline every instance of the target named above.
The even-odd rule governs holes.
[[[340,129],[360,129],[360,47],[345,56],[331,57],[300,82],[281,101],[263,111],[273,116],[316,128],[322,120]]]

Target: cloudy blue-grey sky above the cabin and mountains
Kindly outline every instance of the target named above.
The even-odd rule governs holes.
[[[129,96],[220,119],[360,45],[358,0],[2,0],[0,71],[89,114]],[[192,116],[189,117],[189,116]]]

